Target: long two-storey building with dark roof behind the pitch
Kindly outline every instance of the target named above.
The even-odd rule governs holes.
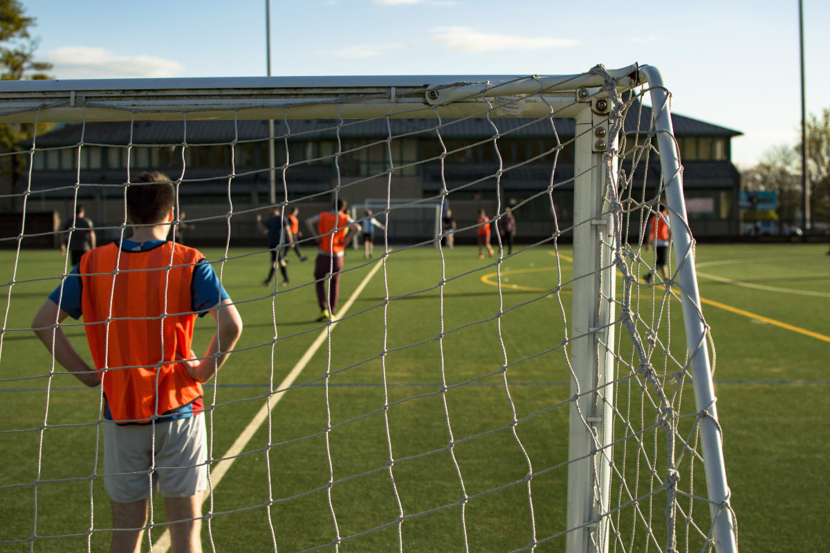
[[[637,128],[637,113],[641,128],[648,128],[650,108],[642,106],[629,109],[626,129]],[[692,231],[703,239],[737,237],[740,177],[730,162],[730,140],[740,133],[681,115],[672,115],[672,121]],[[443,148],[434,119],[391,119],[389,124],[383,118],[276,121],[276,198],[297,201],[301,216],[324,208],[338,182],[339,193],[351,204],[385,198],[391,152],[393,197],[437,197],[446,182],[452,210],[463,227],[475,222],[478,207],[488,214],[495,211],[494,175],[501,163],[502,205],[531,199],[516,212],[520,237],[549,236],[554,230],[551,199],[560,229],[571,225],[573,203],[569,181],[574,177],[574,121],[554,122],[558,140],[551,135],[548,119],[493,119],[500,133],[494,148],[493,124],[487,119],[443,121],[440,134],[447,155],[442,170]],[[388,141],[390,131],[393,139]],[[30,191],[28,210],[55,210],[65,218],[75,201],[83,202],[96,225],[103,227],[104,237],[117,238],[125,220],[128,168],[133,178],[159,169],[173,179],[184,175],[179,207],[188,220],[196,220],[194,243],[224,244],[227,213],[232,214],[234,240],[258,240],[255,211],[269,198],[267,137],[265,120],[66,124],[37,137],[31,185],[25,173],[16,183],[17,193]],[[644,139],[628,136],[627,149]],[[556,170],[551,175],[554,158]],[[529,159],[530,163],[517,164]],[[660,167],[655,153],[651,159],[648,181],[654,186],[660,182]],[[630,156],[623,158],[622,167],[630,172]],[[645,166],[638,167],[642,172]],[[637,182],[642,173],[634,177]],[[548,196],[552,178],[554,188]],[[656,190],[642,193],[652,197]]]

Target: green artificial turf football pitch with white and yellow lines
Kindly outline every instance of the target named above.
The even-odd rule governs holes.
[[[571,296],[567,285],[549,291],[570,278],[570,246],[559,247],[559,264],[551,245],[521,251],[500,275],[495,259],[478,260],[471,247],[444,249],[443,262],[435,248],[396,250],[385,267],[381,251],[376,246],[373,263],[347,251],[345,316],[332,326],[315,321],[311,247],[305,263],[289,252],[291,285],[276,294],[261,284],[266,253],[234,248],[232,259],[214,264],[244,330],[205,387],[210,457],[223,459],[212,466],[215,489],[204,507],[212,513],[203,526],[206,551],[211,541],[217,551],[334,551],[338,537],[339,551],[397,551],[399,540],[404,551],[463,551],[465,540],[469,551],[515,551],[564,531],[570,373],[561,342]],[[826,251],[802,244],[696,250],[743,551],[826,551]],[[224,251],[203,253],[214,261]],[[63,258],[22,250],[14,260],[14,252],[0,252],[0,282],[17,270],[10,303],[8,284],[0,288],[0,313],[7,313],[0,551],[30,551],[33,535],[33,551],[85,551],[88,540],[93,551],[106,551],[100,390],[58,366],[50,375],[49,352],[25,330],[58,283]],[[643,318],[661,290],[637,285]],[[678,325],[676,349],[682,318],[670,303],[659,332]],[[81,323],[66,323],[89,361]],[[198,320],[197,353],[212,326],[210,317]],[[687,400],[692,393],[688,386]],[[705,495],[701,475],[695,489]],[[657,526],[665,520],[661,501],[643,506]],[[154,501],[153,520],[164,521],[163,513]],[[696,517],[708,528],[706,513]],[[163,530],[154,528],[154,541]],[[700,551],[699,541],[678,549]],[[650,541],[648,548],[664,546]],[[643,551],[645,541],[633,549]],[[535,551],[564,551],[564,537]]]

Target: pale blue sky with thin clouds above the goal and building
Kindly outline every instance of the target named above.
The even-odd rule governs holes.
[[[267,0],[22,0],[59,79],[266,75]],[[830,109],[830,2],[803,0],[808,113]],[[800,141],[798,1],[271,0],[272,75],[566,75],[656,66],[676,114]]]

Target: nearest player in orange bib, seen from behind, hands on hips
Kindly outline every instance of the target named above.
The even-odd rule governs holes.
[[[142,173],[137,182],[146,184],[127,188],[127,216],[142,226],[129,240],[85,253],[32,321],[61,366],[86,386],[104,388],[104,468],[98,472],[112,502],[110,551],[139,551],[154,490],[164,495],[173,551],[202,551],[202,383],[242,333],[237,308],[204,256],[166,240],[175,196],[169,180]],[[217,322],[202,361],[191,349],[197,313]],[[84,318],[94,368],[53,327],[67,316]]]

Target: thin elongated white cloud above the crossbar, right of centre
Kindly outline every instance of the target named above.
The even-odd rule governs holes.
[[[478,32],[471,27],[436,27],[432,29],[432,38],[445,43],[450,50],[471,54],[480,54],[481,52],[496,50],[562,48],[577,44],[577,41],[569,38],[502,35],[499,33]]]

